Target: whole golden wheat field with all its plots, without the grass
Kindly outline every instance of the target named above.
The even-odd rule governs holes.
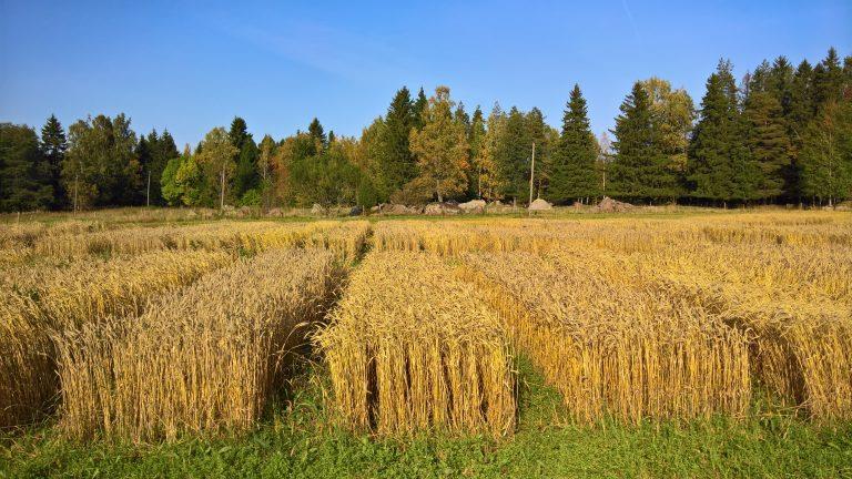
[[[9,430],[239,435],[303,354],[374,437],[513,436],[525,358],[578,427],[852,420],[841,213],[13,223],[0,285]]]

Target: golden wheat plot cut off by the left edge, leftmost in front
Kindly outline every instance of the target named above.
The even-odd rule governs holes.
[[[67,329],[141,312],[154,296],[233,261],[225,253],[161,252],[30,268],[0,299],[0,427],[30,421],[58,395],[55,344]]]

